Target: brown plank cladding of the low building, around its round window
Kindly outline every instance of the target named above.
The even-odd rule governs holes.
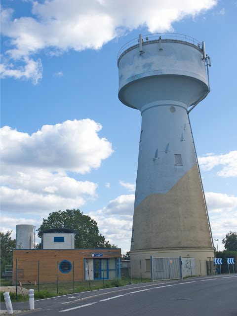
[[[73,282],[73,268],[69,273],[62,273],[57,268],[61,261],[68,260],[74,263],[74,280],[84,280],[84,258],[92,259],[92,254],[102,254],[101,258],[119,258],[121,249],[39,249],[13,250],[12,284],[16,284],[16,259],[18,284]],[[39,268],[40,262],[40,270]]]

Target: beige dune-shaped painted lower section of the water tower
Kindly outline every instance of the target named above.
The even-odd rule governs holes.
[[[213,259],[214,249],[197,165],[166,194],[151,194],[144,198],[134,210],[133,230],[133,276],[140,271],[140,259],[148,259],[151,255],[167,258],[189,254],[196,261]],[[204,267],[206,271],[206,263]]]

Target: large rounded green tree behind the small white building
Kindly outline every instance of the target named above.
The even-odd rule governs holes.
[[[99,234],[96,221],[84,215],[79,209],[52,212],[37,230],[39,233],[50,228],[68,228],[78,232],[75,236],[75,248],[116,248]],[[38,233],[38,235],[39,235]]]

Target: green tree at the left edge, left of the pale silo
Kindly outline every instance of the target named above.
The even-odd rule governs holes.
[[[16,247],[16,239],[11,239],[12,231],[7,231],[5,234],[0,233],[1,243],[1,274],[5,271],[5,265],[12,265],[12,251]]]

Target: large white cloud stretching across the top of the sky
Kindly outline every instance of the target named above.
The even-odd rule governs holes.
[[[10,60],[17,60],[27,67],[29,56],[44,48],[50,55],[58,55],[69,49],[99,49],[108,41],[139,26],[146,26],[152,33],[172,32],[172,23],[194,17],[216,3],[217,0],[32,1],[34,17],[19,18],[14,18],[12,9],[3,8],[1,32],[10,39],[5,57],[9,58],[9,64]],[[5,69],[9,67],[5,66]],[[11,72],[3,73],[5,77],[24,77],[24,68],[16,65],[10,68]],[[39,69],[34,77],[41,76]]]

